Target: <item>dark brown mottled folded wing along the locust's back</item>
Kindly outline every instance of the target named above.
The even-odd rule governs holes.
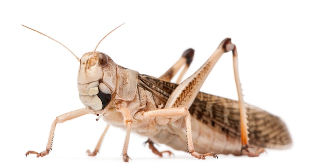
[[[141,74],[138,85],[150,90],[164,102],[177,86],[177,84]],[[246,109],[248,136],[251,144],[275,149],[291,146],[292,139],[287,126],[279,117],[247,103]],[[208,126],[229,136],[240,138],[240,114],[237,101],[199,92],[189,112]]]

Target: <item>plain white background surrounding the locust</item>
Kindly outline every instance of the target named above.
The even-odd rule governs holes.
[[[107,0],[0,2],[1,117],[0,167],[273,167],[297,166],[311,153],[311,38],[312,9],[303,0],[218,2]],[[105,128],[86,115],[58,124],[53,151],[44,158],[25,157],[28,150],[45,150],[56,116],[82,108],[76,87],[79,63],[56,42],[21,24],[41,31],[70,48],[78,57],[98,51],[126,68],[158,77],[192,47],[193,73],[226,37],[239,54],[245,101],[280,116],[294,145],[289,150],[267,150],[258,158],[219,155],[200,161],[184,152],[158,158],[131,134],[130,163],[121,151],[125,131],[111,127],[100,154],[93,150]],[[236,99],[231,54],[225,54],[202,91]],[[160,145],[160,149],[169,148]]]

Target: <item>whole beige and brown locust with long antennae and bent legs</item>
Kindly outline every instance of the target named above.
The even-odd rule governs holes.
[[[31,30],[54,40],[37,30]],[[107,130],[113,125],[126,131],[122,150],[124,162],[130,160],[128,145],[131,132],[148,137],[146,143],[159,157],[172,153],[158,151],[155,143],[188,152],[202,160],[206,157],[216,159],[218,154],[257,157],[265,152],[265,148],[291,147],[292,138],[283,120],[244,102],[237,49],[230,38],[225,38],[207,61],[181,82],[193,60],[193,49],[185,50],[171,68],[156,78],[124,68],[107,54],[96,51],[106,36],[93,51],[85,53],[80,59],[54,40],[68,49],[80,63],[77,86],[85,108],[57,116],[50,129],[46,149],[40,153],[27,151],[26,156],[48,155],[52,150],[56,125],[85,114],[96,115],[96,120],[102,118],[107,122],[94,151],[88,150],[88,155],[97,155]],[[229,51],[233,56],[238,101],[200,91],[218,59]],[[180,69],[182,71],[177,81],[171,82]]]

